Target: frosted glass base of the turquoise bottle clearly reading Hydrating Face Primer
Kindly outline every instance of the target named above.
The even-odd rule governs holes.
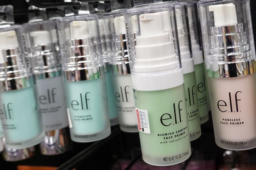
[[[110,126],[108,126],[108,128],[106,128],[104,131],[101,131],[99,133],[95,133],[95,134],[71,134],[71,139],[74,142],[79,142],[79,143],[86,143],[86,142],[94,142],[97,140],[101,140],[104,138],[107,138],[109,135],[111,134],[111,130],[110,130]],[[75,136],[81,136],[81,138],[77,138]],[[89,138],[88,138],[89,136]],[[83,137],[83,138],[82,138]]]

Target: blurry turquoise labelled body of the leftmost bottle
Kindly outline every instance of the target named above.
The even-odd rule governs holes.
[[[21,145],[19,142],[42,133],[34,87],[1,92],[0,98],[0,118],[7,145]]]

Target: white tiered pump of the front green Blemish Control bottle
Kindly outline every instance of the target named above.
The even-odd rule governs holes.
[[[173,77],[177,67],[180,67],[179,61],[175,58],[169,32],[164,32],[161,13],[141,14],[139,19],[140,36],[137,36],[135,75],[132,75],[134,87],[137,90],[150,91],[169,89],[177,84],[182,84],[181,69],[181,78],[178,77],[180,74],[176,74],[175,80],[177,81],[175,83],[171,81],[164,84],[159,83],[166,78],[169,80],[169,76]]]

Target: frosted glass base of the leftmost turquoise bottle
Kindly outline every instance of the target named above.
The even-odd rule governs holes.
[[[41,143],[44,140],[44,135],[45,135],[45,132],[43,131],[37,137],[31,138],[31,139],[26,140],[26,141],[22,141],[22,142],[7,142],[6,141],[5,147],[12,148],[12,149],[23,149],[23,148],[28,148],[28,147],[31,147],[31,146],[35,146],[35,145]],[[19,144],[19,145],[16,145],[16,144]]]

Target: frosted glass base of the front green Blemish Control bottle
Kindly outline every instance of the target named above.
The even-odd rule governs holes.
[[[186,155],[185,157],[183,157],[184,159],[182,160],[179,160],[179,161],[173,161],[171,164],[167,163],[167,164],[161,164],[160,162],[162,162],[163,160],[163,157],[150,157],[148,155],[145,155],[142,153],[142,159],[144,160],[144,162],[146,162],[147,164],[149,165],[153,165],[153,166],[171,166],[171,165],[176,165],[176,164],[179,164],[181,162],[184,162],[185,160],[187,160],[189,157],[191,156],[191,153],[189,153],[188,155]],[[167,157],[167,159],[169,159]],[[158,161],[159,162],[158,162]]]

